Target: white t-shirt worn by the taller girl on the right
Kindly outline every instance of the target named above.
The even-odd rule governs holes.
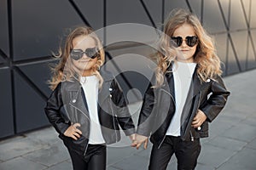
[[[176,111],[172,117],[172,122],[168,127],[166,135],[180,136],[181,116],[183,106],[189,93],[190,83],[195,71],[195,63],[178,62],[173,67],[174,91]]]

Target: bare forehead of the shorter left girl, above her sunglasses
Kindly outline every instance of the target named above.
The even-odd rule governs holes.
[[[73,38],[73,48],[94,48],[96,46],[96,42],[94,38],[90,36],[79,36]]]

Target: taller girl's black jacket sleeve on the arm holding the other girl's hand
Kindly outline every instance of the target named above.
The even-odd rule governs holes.
[[[152,84],[149,83],[148,88],[143,97],[143,105],[139,114],[138,124],[137,124],[137,134],[143,136],[150,136],[152,128],[154,127],[154,88]]]

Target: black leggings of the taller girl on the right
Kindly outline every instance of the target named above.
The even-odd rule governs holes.
[[[193,170],[201,152],[200,139],[183,141],[180,137],[166,136],[160,148],[154,144],[148,169],[166,169],[173,154],[177,157],[177,170]]]

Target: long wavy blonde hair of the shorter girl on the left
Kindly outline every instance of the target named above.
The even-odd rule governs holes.
[[[96,65],[93,65],[91,74],[96,75],[99,80],[99,88],[102,87],[103,78],[99,72],[100,67],[105,61],[105,53],[102,48],[102,42],[96,36],[94,31],[87,26],[80,26],[75,28],[69,33],[66,38],[64,48],[59,48],[59,54],[54,57],[59,60],[58,64],[51,67],[52,77],[49,80],[49,88],[52,90],[56,88],[59,82],[79,80],[81,77],[80,71],[78,71],[74,65],[72,59],[69,57],[70,52],[73,49],[73,39],[79,36],[88,36],[95,40],[96,48],[98,49]]]

